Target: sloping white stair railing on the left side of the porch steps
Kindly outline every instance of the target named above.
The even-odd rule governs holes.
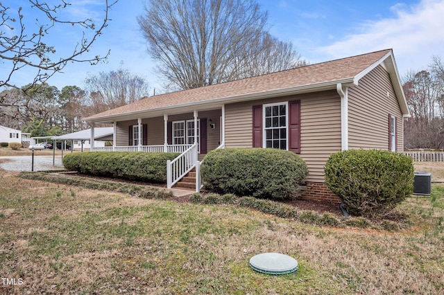
[[[196,166],[197,154],[198,145],[196,143],[173,161],[167,161],[167,188],[171,188]]]

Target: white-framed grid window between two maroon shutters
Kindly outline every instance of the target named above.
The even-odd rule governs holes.
[[[288,103],[264,105],[264,147],[288,150]]]

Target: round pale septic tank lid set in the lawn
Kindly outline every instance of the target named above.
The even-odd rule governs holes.
[[[284,254],[262,253],[250,258],[250,267],[264,274],[293,274],[298,270],[298,262]]]

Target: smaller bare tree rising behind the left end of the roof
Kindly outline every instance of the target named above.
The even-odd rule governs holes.
[[[89,92],[87,105],[92,114],[121,107],[148,96],[148,82],[126,69],[100,72],[85,80]]]

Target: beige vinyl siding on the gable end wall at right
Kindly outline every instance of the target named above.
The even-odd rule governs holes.
[[[387,96],[388,93],[388,96]],[[404,137],[402,113],[390,76],[377,66],[348,89],[348,147],[388,150],[388,115],[396,117],[398,152]]]

